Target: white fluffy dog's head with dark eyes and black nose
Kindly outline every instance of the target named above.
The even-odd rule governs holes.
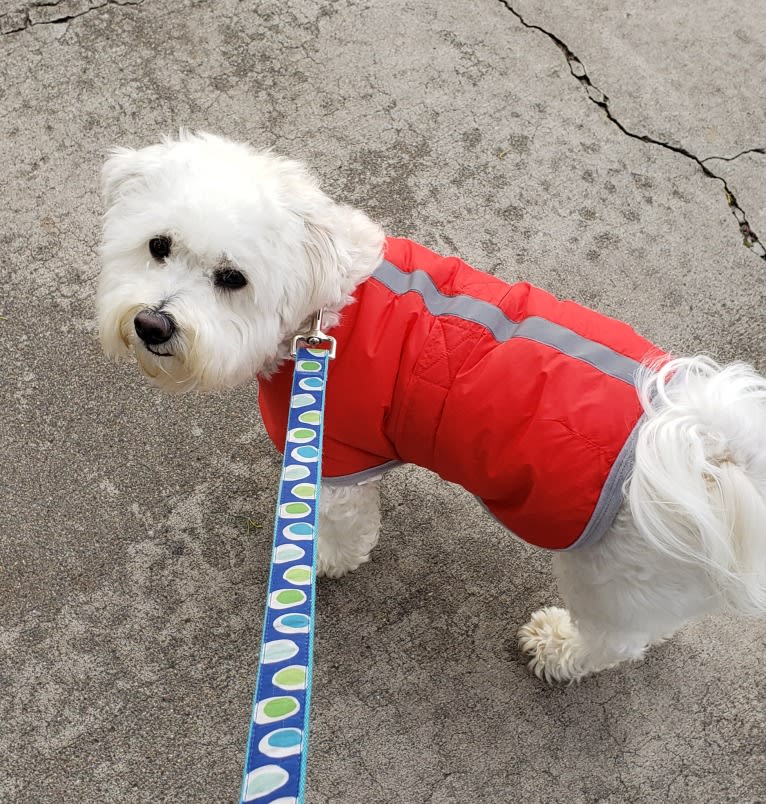
[[[379,227],[299,163],[210,134],[116,149],[103,193],[101,341],[167,391],[272,370],[306,319],[340,309],[380,258]]]

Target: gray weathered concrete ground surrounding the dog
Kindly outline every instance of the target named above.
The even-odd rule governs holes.
[[[766,370],[765,34],[762,0],[0,0],[0,800],[238,793],[277,458],[254,387],[101,356],[109,146],[274,146],[390,233]],[[384,505],[320,583],[308,802],[766,799],[766,624],[547,689],[514,633],[548,558],[419,470]]]

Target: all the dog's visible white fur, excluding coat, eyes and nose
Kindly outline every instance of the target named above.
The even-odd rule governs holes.
[[[299,164],[209,134],[117,149],[103,173],[108,205],[98,292],[106,352],[130,351],[171,392],[267,375],[318,308],[337,322],[380,260],[381,229],[336,204]],[[158,264],[152,237],[172,238]],[[248,280],[212,282],[225,258]],[[137,337],[134,318],[176,323],[170,354]],[[766,380],[744,364],[681,358],[638,381],[646,410],[635,469],[597,544],[554,555],[567,609],[543,608],[519,631],[529,667],[570,682],[618,662],[721,607],[766,611]],[[376,482],[326,485],[319,571],[368,560],[380,527]]]

